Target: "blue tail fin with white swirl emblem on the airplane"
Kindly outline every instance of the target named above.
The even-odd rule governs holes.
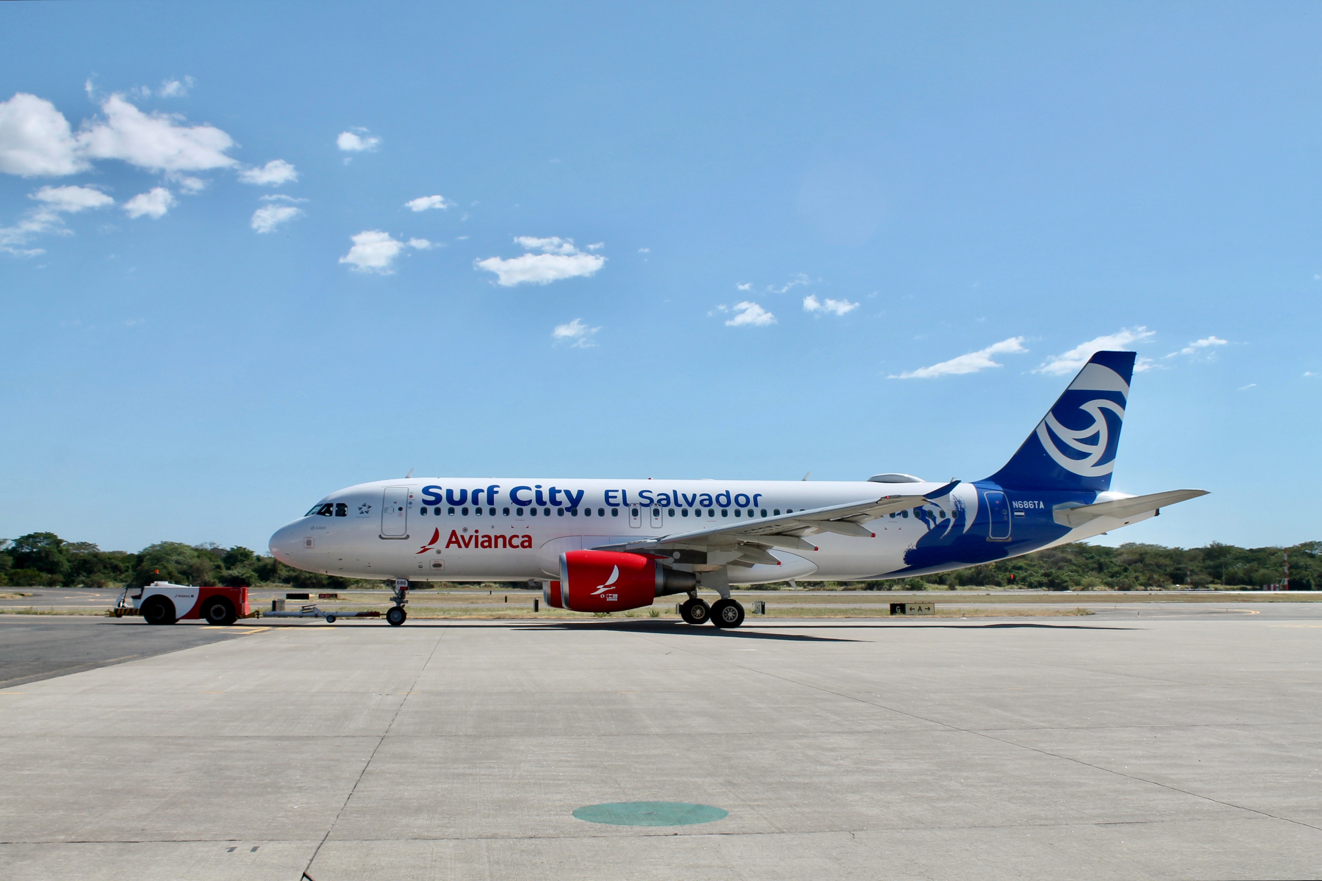
[[[1021,489],[1110,488],[1133,352],[1097,352],[1005,467],[988,478]]]

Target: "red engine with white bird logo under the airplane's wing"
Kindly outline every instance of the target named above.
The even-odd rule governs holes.
[[[666,569],[654,557],[568,550],[561,554],[561,602],[554,605],[572,611],[640,608],[657,597],[693,590],[697,583],[693,573]]]

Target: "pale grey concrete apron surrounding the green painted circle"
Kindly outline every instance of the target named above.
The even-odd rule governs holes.
[[[208,642],[0,689],[8,880],[1322,876],[1313,603],[41,623]]]

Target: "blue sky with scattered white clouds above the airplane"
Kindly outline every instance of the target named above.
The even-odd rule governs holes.
[[[1107,540],[1319,538],[1319,19],[4,4],[0,536],[264,548],[410,468],[977,479],[1109,340],[1113,488],[1214,495]]]

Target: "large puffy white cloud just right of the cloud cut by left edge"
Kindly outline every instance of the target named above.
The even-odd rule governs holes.
[[[144,114],[111,95],[100,105],[103,122],[85,123],[78,144],[91,159],[122,159],[157,172],[206,171],[237,164],[225,151],[234,139],[214,126],[185,126],[177,114]]]

